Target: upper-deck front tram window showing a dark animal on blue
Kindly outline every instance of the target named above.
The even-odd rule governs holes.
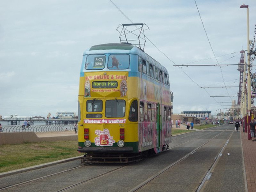
[[[108,69],[128,69],[130,56],[127,54],[109,55]]]

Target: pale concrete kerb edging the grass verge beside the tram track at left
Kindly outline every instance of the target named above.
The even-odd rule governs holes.
[[[44,164],[37,165],[37,166],[30,166],[30,167],[26,167],[26,168],[23,168],[23,169],[17,169],[17,170],[13,170],[13,171],[0,173],[0,178],[10,176],[10,175],[14,175],[14,174],[17,174],[17,173],[24,173],[24,172],[31,171],[31,170],[34,170],[34,169],[40,169],[40,168],[44,168],[44,167],[48,167],[48,166],[53,166],[53,165],[57,165],[57,164],[64,163],[64,162],[70,162],[70,161],[79,159],[81,157],[83,157],[83,156],[61,159],[61,160],[58,160],[58,161],[44,163]]]

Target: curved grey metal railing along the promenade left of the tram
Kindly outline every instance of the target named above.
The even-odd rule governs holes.
[[[61,132],[72,130],[74,125],[6,125],[3,126],[2,132]]]

